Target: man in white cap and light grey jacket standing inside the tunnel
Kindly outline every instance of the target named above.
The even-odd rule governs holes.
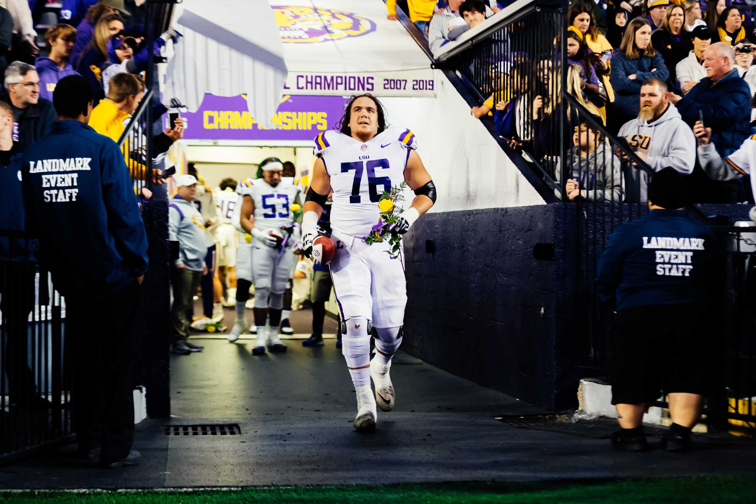
[[[173,307],[171,308],[171,353],[188,355],[202,351],[204,347],[193,345],[189,338],[190,303],[200,286],[202,275],[207,274],[205,255],[205,220],[194,206],[197,197],[197,179],[193,175],[179,175],[175,178],[176,195],[168,209],[168,240],[178,243],[172,250],[178,250],[174,257],[172,271]]]

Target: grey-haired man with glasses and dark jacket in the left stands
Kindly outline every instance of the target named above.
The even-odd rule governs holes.
[[[57,112],[50,100],[39,97],[39,75],[34,66],[14,61],[5,70],[5,89],[0,100],[13,107],[18,131],[14,139],[21,150],[47,135],[57,121]]]

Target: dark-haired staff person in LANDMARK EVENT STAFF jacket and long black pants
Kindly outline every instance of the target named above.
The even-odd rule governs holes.
[[[40,257],[66,298],[73,426],[82,456],[101,447],[101,465],[135,465],[134,348],[147,234],[123,153],[87,125],[91,86],[65,77],[53,100],[60,120],[26,151],[23,177]]]

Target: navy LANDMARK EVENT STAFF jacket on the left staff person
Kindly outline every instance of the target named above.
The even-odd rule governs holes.
[[[27,150],[23,177],[29,228],[63,295],[112,295],[147,271],[147,234],[116,142],[56,121]]]

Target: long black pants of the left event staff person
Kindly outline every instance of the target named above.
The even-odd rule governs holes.
[[[134,365],[142,328],[136,280],[110,298],[67,298],[73,348],[73,429],[79,449],[101,444],[101,462],[129,454],[134,441]]]

